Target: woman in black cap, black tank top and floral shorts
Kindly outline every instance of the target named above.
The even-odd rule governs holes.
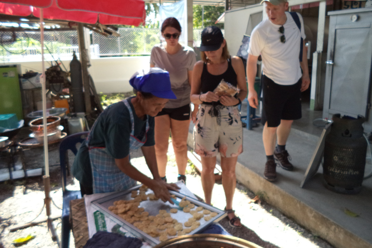
[[[235,166],[243,152],[243,128],[238,105],[247,96],[244,65],[240,58],[231,57],[226,40],[217,27],[202,31],[200,46],[202,61],[195,64],[191,84],[191,101],[200,104],[195,127],[195,152],[202,158],[202,186],[205,202],[211,204],[215,184],[216,156],[221,155],[222,186],[225,190],[229,224],[241,227],[233,210],[236,186]],[[218,96],[213,91],[221,80],[240,89],[235,96]]]

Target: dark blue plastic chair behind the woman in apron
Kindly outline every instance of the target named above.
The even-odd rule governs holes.
[[[66,189],[66,177],[69,167],[67,151],[71,150],[75,155],[78,153],[76,145],[83,142],[89,132],[81,132],[67,136],[60,144],[60,163],[62,175],[62,231],[61,231],[61,248],[68,248],[70,241],[70,201],[81,198],[80,190]]]

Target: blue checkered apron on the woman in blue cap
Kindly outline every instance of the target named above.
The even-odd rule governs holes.
[[[131,134],[130,134],[130,152],[139,149],[147,140],[147,131],[149,130],[149,121],[146,122],[146,135],[142,140],[134,136],[134,118],[132,108],[128,100],[123,100],[126,108],[130,113]],[[94,125],[92,130],[94,129]],[[88,137],[89,144],[89,137]],[[137,185],[137,181],[123,173],[115,164],[115,159],[109,155],[105,147],[89,147],[89,157],[91,159],[92,175],[93,175],[93,192],[105,193],[112,191],[120,191]]]

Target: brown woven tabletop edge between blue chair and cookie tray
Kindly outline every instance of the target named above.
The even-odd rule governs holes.
[[[82,248],[89,239],[87,213],[84,199],[70,202],[71,229],[74,234],[75,247]]]

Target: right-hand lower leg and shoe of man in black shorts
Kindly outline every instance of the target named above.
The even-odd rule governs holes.
[[[293,120],[280,121],[280,125],[277,129],[278,146],[274,151],[275,159],[278,161],[280,167],[287,171],[293,170],[293,165],[288,161],[288,158],[291,159],[291,157],[287,150],[285,150],[285,145],[291,132],[292,123]]]

